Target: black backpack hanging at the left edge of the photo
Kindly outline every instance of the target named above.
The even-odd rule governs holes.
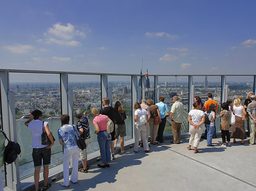
[[[3,133],[3,135],[5,135],[5,138],[8,141],[8,144],[5,147],[5,154],[3,156],[3,160],[5,161],[5,163],[11,164],[14,162],[14,160],[16,160],[16,158],[20,154],[20,152],[21,152],[20,146],[19,146],[19,143],[10,141],[3,131],[2,131],[2,133]]]

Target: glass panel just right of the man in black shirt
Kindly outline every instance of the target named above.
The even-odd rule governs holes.
[[[131,100],[131,76],[108,76],[108,94],[110,104],[114,108],[115,102],[119,101],[126,113],[126,136],[125,141],[133,138],[133,105]]]

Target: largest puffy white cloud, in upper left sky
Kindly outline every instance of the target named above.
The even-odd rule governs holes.
[[[47,32],[44,33],[46,39],[45,43],[79,46],[81,43],[74,40],[76,36],[86,37],[84,32],[75,29],[75,26],[68,23],[67,26],[61,25],[60,23],[53,24],[52,28],[48,28]]]

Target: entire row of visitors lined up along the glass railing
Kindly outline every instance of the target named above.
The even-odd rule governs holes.
[[[244,105],[241,103],[242,97],[238,96],[234,100],[228,99],[225,103],[221,104],[221,137],[222,145],[226,147],[226,142],[230,145],[230,138],[233,138],[233,142],[236,143],[236,139],[241,139],[241,144],[246,139],[244,116],[248,117],[248,131],[250,131],[250,145],[255,144],[255,124],[256,124],[256,97],[253,92],[249,92]],[[171,143],[180,143],[180,129],[183,122],[184,105],[179,101],[179,97],[173,97],[174,104],[172,104],[171,111],[168,105],[164,103],[164,97],[159,97],[159,103],[154,104],[152,99],[142,99],[141,104],[136,102],[134,104],[134,152],[139,151],[139,143],[143,146],[145,152],[150,151],[148,145],[148,135],[150,134],[150,144],[156,145],[158,142],[164,143],[163,132],[166,126],[166,119],[170,116],[172,133],[174,135],[174,141]],[[201,135],[205,129],[205,135],[207,136],[207,146],[212,145],[212,138],[216,134],[216,126],[214,120],[216,118],[218,105],[213,100],[211,93],[208,93],[208,100],[203,101],[199,96],[195,96],[195,102],[193,108],[188,113],[188,122],[190,124],[188,150],[194,148],[194,153],[198,153],[199,142]],[[117,148],[118,138],[120,136],[121,154],[124,150],[124,137],[126,136],[126,113],[122,108],[121,103],[117,101],[114,108],[111,107],[108,97],[102,99],[104,107],[98,111],[97,108],[92,108],[92,115],[94,116],[93,125],[95,128],[94,133],[97,134],[97,141],[100,147],[101,164],[98,167],[105,168],[110,167],[111,160],[115,159],[114,150]],[[230,118],[232,113],[235,116],[235,123],[230,129]],[[86,112],[82,113],[80,109],[75,111],[75,117],[77,118],[77,124],[69,124],[68,114],[63,114],[60,117],[61,128],[57,131],[60,145],[63,145],[63,176],[64,181],[60,183],[61,186],[69,187],[69,182],[76,184],[78,179],[78,172],[88,172],[89,166],[87,165],[87,152],[86,148],[90,142],[90,129],[89,121],[86,118]],[[114,130],[112,133],[107,132],[108,122],[114,123]],[[208,122],[207,122],[208,121]],[[51,184],[48,183],[49,164],[51,164],[51,147],[54,145],[53,136],[49,130],[47,121],[43,121],[43,114],[39,110],[35,110],[30,114],[29,120],[25,122],[25,125],[31,130],[32,133],[32,158],[34,161],[34,181],[35,190],[39,190],[39,175],[40,168],[42,167],[43,160],[43,178],[44,185],[42,190],[47,190]],[[46,132],[48,139],[51,143],[49,145],[42,145],[42,132]],[[215,135],[216,136],[216,135]],[[79,137],[85,139],[86,148],[80,150],[77,146],[77,140]],[[5,138],[0,134],[0,141],[4,142]],[[1,143],[0,152],[4,150],[4,145]],[[0,153],[0,165],[3,164],[3,155]],[[82,160],[82,168],[79,169],[79,156]],[[69,162],[72,158],[72,174],[69,178]]]

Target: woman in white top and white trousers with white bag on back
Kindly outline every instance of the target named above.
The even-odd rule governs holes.
[[[138,102],[135,102],[134,109],[136,111],[134,112],[134,121],[137,122],[138,119],[146,115],[147,122],[150,120],[150,114],[145,110],[141,108],[141,105]],[[148,138],[147,138],[147,126],[145,124],[141,125],[134,125],[134,136],[135,136],[135,143],[134,143],[134,152],[138,152],[139,150],[139,136],[141,135],[142,142],[143,142],[143,148],[145,152],[149,152],[149,146],[148,146]]]

